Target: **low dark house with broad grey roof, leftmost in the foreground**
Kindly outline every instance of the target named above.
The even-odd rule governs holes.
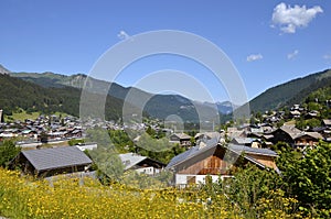
[[[22,151],[12,162],[23,173],[38,177],[84,172],[92,160],[76,146]]]

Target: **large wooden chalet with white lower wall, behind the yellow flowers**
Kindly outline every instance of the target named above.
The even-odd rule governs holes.
[[[244,153],[243,160],[239,158]],[[204,183],[206,176],[213,182],[231,177],[235,167],[252,163],[259,168],[275,168],[276,152],[268,149],[253,149],[242,145],[222,145],[211,140],[202,145],[196,145],[173,157],[168,166],[174,173],[174,184],[185,186],[189,184]]]

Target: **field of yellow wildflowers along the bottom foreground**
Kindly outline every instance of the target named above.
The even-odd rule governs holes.
[[[139,190],[90,178],[50,183],[2,168],[0,178],[0,216],[9,218],[302,218],[292,213],[297,200],[278,191],[249,212],[206,187]]]

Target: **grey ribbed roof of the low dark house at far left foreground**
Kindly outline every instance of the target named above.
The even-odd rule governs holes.
[[[92,163],[92,160],[76,146],[29,150],[21,153],[38,172]]]

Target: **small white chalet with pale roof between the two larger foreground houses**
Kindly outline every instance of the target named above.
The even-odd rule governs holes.
[[[161,172],[166,164],[135,153],[119,154],[125,171],[135,169],[138,173],[154,175]]]

